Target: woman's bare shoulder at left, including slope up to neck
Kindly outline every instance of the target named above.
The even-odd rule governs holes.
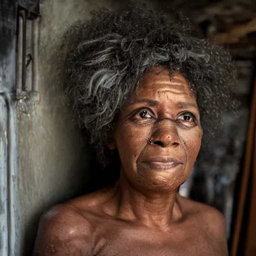
[[[112,194],[109,187],[75,197],[51,207],[42,214],[37,230],[33,255],[93,254],[95,229],[100,226],[102,204]]]

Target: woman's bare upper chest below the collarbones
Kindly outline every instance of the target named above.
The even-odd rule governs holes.
[[[221,255],[217,244],[198,229],[157,232],[146,228],[115,226],[97,239],[93,256]]]

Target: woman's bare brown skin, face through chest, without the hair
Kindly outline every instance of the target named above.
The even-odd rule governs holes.
[[[46,212],[34,255],[227,255],[221,213],[177,194],[201,137],[184,76],[176,72],[170,80],[164,69],[149,70],[108,142],[119,152],[119,180],[57,205],[51,217]]]

